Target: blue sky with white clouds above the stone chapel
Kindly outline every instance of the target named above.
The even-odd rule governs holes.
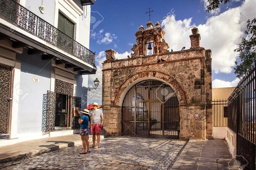
[[[89,75],[89,87],[96,77],[102,82],[105,50],[117,51],[117,59],[127,58],[136,43],[139,26],[160,22],[170,49],[190,48],[191,28],[198,27],[201,47],[212,50],[212,88],[235,87],[239,79],[233,68],[238,54],[234,50],[244,37],[247,19],[256,17],[256,0],[230,0],[208,13],[207,0],[96,0],[91,5],[90,50],[96,52],[95,75]],[[86,7],[85,7],[86,15]],[[246,37],[248,38],[248,37]],[[169,50],[170,50],[169,49]],[[102,88],[88,92],[88,103],[101,104]]]

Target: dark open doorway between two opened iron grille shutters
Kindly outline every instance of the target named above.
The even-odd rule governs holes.
[[[70,127],[70,98],[56,93],[55,127]]]

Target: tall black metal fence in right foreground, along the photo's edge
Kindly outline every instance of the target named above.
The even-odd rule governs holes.
[[[256,63],[228,98],[228,127],[237,132],[237,156],[244,170],[255,165]]]

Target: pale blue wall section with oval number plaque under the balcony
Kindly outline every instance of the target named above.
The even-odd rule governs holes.
[[[28,55],[24,48],[23,54],[16,56],[21,61],[20,85],[24,92],[22,98],[16,99],[18,109],[18,133],[42,131],[42,99],[43,94],[50,90],[50,72],[53,67],[41,55]],[[38,77],[39,83],[32,81]],[[22,94],[20,92],[20,94]]]

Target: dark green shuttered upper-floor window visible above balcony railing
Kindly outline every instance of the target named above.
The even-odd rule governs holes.
[[[74,24],[61,13],[59,13],[58,17],[58,29],[69,37],[74,38]]]

